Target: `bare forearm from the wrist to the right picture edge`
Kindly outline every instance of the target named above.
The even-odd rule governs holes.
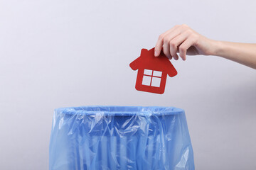
[[[213,55],[256,69],[256,44],[215,41]]]

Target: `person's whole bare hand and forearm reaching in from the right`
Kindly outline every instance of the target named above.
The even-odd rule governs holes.
[[[256,69],[256,44],[210,40],[185,24],[174,26],[159,36],[155,56],[161,50],[169,58],[186,60],[186,55],[216,55]]]

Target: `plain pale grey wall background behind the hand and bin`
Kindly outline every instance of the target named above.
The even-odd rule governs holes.
[[[256,169],[256,72],[221,57],[171,62],[163,95],[134,89],[129,63],[186,23],[208,38],[256,42],[256,1],[0,0],[0,169],[48,169],[53,109],[176,106],[196,169]]]

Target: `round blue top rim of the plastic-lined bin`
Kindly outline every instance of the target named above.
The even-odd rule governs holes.
[[[55,113],[67,115],[178,115],[184,113],[181,108],[169,106],[80,106],[56,108]]]

